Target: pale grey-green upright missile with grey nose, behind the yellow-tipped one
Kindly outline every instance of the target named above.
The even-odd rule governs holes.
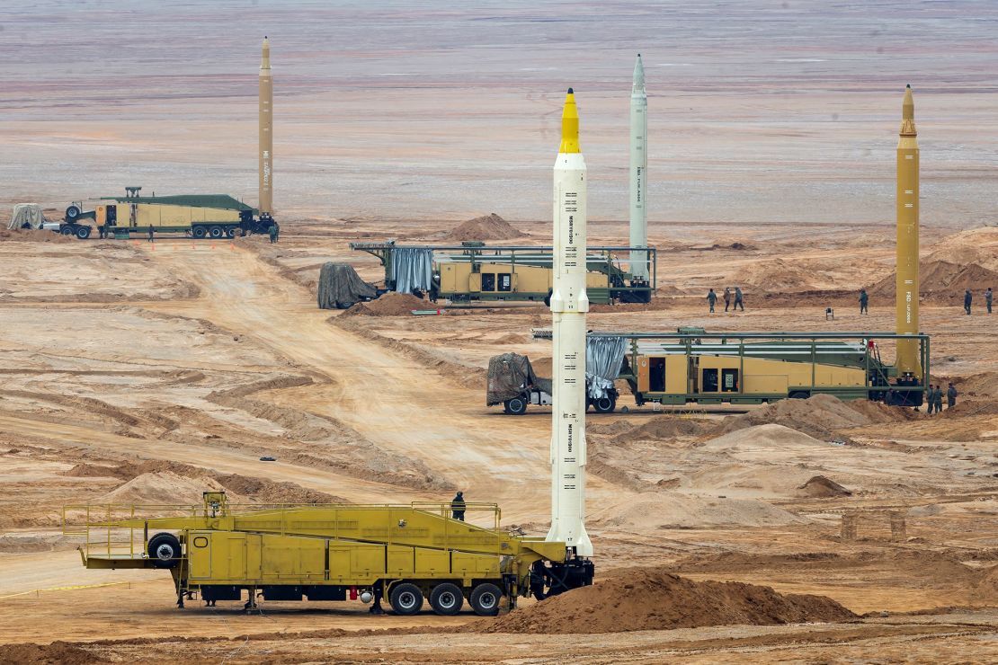
[[[645,66],[641,54],[634,65],[631,89],[631,246],[648,246],[646,206],[648,171],[648,94],[645,92]],[[648,252],[631,252],[631,273],[648,279]]]

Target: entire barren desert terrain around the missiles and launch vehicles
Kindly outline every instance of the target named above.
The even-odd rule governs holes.
[[[994,19],[973,2],[0,8],[0,55],[18,63],[0,95],[0,222],[10,203],[55,218],[133,183],[252,202],[266,33],[281,223],[277,244],[0,231],[0,663],[998,660],[998,319],[981,298],[998,287],[998,140],[981,131],[998,108]],[[114,49],[88,38],[112,35]],[[597,583],[495,620],[359,602],[179,610],[167,572],[82,567],[63,506],[206,489],[266,503],[462,490],[546,532],[550,410],[486,407],[485,368],[506,351],[550,367],[532,335],[548,310],[320,310],[316,279],[332,260],[376,283],[350,241],[441,242],[490,212],[517,237],[485,221],[480,239],[550,244],[568,85],[590,242],[623,244],[637,51],[658,294],[594,307],[589,327],[892,330],[911,83],[921,327],[956,408],[625,395],[628,413],[588,421]],[[710,314],[707,290],[735,284],[746,311]]]

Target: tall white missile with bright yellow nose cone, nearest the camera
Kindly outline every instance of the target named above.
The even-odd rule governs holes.
[[[586,533],[586,161],[570,88],[554,167],[554,406],[551,423],[551,530],[568,553],[591,556]]]

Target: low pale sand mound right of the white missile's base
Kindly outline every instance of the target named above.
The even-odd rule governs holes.
[[[645,493],[596,510],[591,521],[627,529],[778,526],[806,519],[756,499]]]

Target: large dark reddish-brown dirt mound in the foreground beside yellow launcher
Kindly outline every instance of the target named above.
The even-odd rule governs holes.
[[[469,632],[615,633],[733,624],[779,625],[848,621],[856,615],[831,598],[781,594],[741,582],[695,582],[665,568],[631,568],[592,586],[563,593]]]

